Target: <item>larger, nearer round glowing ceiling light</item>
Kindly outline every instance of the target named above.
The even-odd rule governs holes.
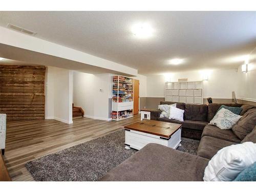
[[[134,25],[132,27],[132,32],[138,38],[148,38],[153,35],[153,29],[147,23],[140,23]]]

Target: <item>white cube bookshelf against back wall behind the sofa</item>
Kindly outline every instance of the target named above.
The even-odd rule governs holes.
[[[203,104],[203,81],[165,82],[165,101]]]

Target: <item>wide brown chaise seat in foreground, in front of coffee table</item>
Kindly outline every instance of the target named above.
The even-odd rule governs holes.
[[[150,143],[100,181],[202,181],[207,159]]]

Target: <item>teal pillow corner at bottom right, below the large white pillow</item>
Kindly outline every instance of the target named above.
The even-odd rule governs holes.
[[[245,168],[233,181],[256,181],[256,162]]]

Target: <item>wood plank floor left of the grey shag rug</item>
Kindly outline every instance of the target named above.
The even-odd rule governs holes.
[[[140,121],[140,114],[122,121],[77,117],[73,124],[56,120],[7,121],[4,160],[13,181],[33,181],[25,163],[101,137]]]

